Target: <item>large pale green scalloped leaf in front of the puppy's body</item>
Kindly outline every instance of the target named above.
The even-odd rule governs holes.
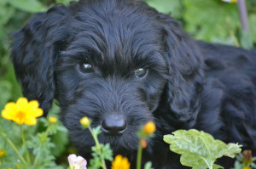
[[[170,144],[170,149],[181,155],[181,164],[195,169],[223,168],[214,162],[223,155],[234,158],[241,152],[241,145],[224,144],[212,138],[206,132],[195,129],[189,131],[177,130],[173,135],[164,136],[164,141]]]

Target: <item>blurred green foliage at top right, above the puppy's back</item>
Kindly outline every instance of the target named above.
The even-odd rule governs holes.
[[[252,48],[253,43],[256,44],[254,0],[247,1],[249,35],[241,30],[236,3],[224,3],[221,0],[165,0],[161,3],[158,0],[145,1],[160,12],[171,13],[195,39],[242,48]]]

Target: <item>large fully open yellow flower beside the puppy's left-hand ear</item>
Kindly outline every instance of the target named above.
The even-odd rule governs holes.
[[[27,101],[26,98],[20,98],[17,103],[10,102],[2,110],[2,116],[5,119],[15,121],[17,124],[35,125],[37,117],[43,115],[43,110],[38,108],[38,101]]]

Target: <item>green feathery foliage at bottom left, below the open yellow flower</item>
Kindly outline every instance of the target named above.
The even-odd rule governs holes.
[[[57,112],[59,109],[54,106],[49,115],[57,117]],[[26,144],[20,137],[20,125],[5,120],[2,116],[0,124],[0,149],[5,149],[7,152],[1,159],[0,168],[16,168],[19,165],[20,168],[29,169],[63,169],[63,166],[55,164],[55,158],[63,153],[68,143],[67,129],[61,125],[60,121],[50,124],[46,118],[40,118],[36,126],[23,125]],[[30,166],[20,161],[20,156],[3,136],[15,144],[22,156],[26,156],[27,146],[32,161]]]

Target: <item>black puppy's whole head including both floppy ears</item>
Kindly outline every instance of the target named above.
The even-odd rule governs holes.
[[[24,95],[46,113],[57,99],[73,142],[86,152],[94,142],[81,130],[83,116],[102,126],[102,143],[136,149],[138,127],[155,120],[160,103],[178,118],[194,109],[196,51],[170,16],[142,2],[99,0],[37,14],[15,34],[11,57]]]

